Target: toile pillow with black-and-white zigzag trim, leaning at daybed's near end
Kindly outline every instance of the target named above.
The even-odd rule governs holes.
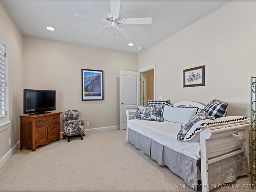
[[[210,116],[204,110],[201,110],[198,114],[193,116],[184,126],[181,125],[181,130],[177,135],[178,141],[189,140],[195,136],[196,132],[201,131],[201,120],[215,119],[214,116]]]

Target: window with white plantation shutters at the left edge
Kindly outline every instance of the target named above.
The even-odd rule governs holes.
[[[0,38],[0,131],[10,124],[8,119],[8,43]]]

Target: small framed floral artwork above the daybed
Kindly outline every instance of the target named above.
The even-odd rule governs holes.
[[[205,86],[205,66],[183,70],[183,87]]]

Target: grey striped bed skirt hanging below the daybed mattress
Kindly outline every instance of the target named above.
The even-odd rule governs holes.
[[[200,167],[200,160],[176,152],[130,128],[128,128],[128,142],[142,150],[159,165],[167,166],[174,174],[180,176],[188,186],[198,190],[198,180],[201,178],[201,173],[198,171],[197,165]],[[236,180],[238,176],[249,174],[248,160],[244,153],[236,154],[208,165],[208,173],[209,186],[230,183]]]

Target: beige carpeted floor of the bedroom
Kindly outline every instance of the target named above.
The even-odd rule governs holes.
[[[0,192],[194,192],[166,166],[126,143],[126,130],[88,133],[24,148],[0,169]],[[212,192],[250,191],[249,177]],[[236,188],[236,189],[233,189]]]

